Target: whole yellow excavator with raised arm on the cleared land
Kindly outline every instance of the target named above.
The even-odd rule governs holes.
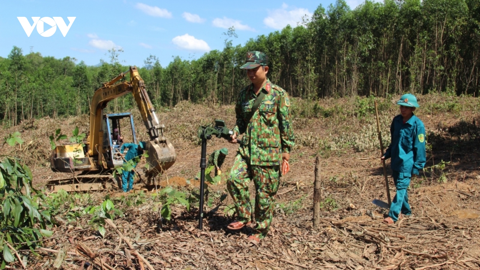
[[[127,80],[126,75],[130,75],[130,79]],[[86,141],[78,144],[59,145],[53,149],[50,159],[52,171],[74,174],[79,172],[75,177],[77,180],[80,178],[111,178],[108,172],[123,163],[122,153],[120,153],[122,142],[120,137],[114,136],[114,131],[115,133],[120,132],[121,119],[130,118],[128,122],[132,129],[133,143],[137,143],[137,139],[132,113],[104,114],[103,110],[110,100],[129,93],[132,93],[135,99],[150,139],[145,146],[149,169],[144,172],[144,176],[149,179],[155,177],[175,163],[175,149],[164,136],[165,125],[158,123],[155,108],[148,97],[144,81],[140,77],[138,69],[131,66],[128,71],[103,83],[103,86],[95,91],[90,105],[90,133]],[[87,185],[87,188],[100,189],[101,186],[100,184],[90,184]],[[58,187],[55,189],[57,190]],[[79,191],[84,190],[85,187],[78,183],[67,189],[70,189],[67,191]]]

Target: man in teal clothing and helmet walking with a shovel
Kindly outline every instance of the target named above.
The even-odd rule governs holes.
[[[395,182],[396,195],[390,205],[388,217],[384,223],[393,224],[400,213],[411,214],[408,205],[407,188],[412,174],[419,174],[426,162],[425,152],[425,126],[413,114],[415,108],[420,107],[417,98],[412,94],[405,94],[396,102],[400,105],[400,114],[397,115],[390,126],[392,142],[385,151],[381,160],[391,158],[392,176]]]

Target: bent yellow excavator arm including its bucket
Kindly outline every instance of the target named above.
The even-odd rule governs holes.
[[[129,81],[120,81],[130,74]],[[120,81],[120,82],[119,82]],[[148,97],[144,81],[138,74],[135,66],[124,73],[121,73],[101,88],[95,91],[90,105],[90,135],[88,138],[88,155],[98,155],[98,163],[102,164],[103,156],[103,130],[102,117],[103,109],[107,107],[108,101],[119,98],[125,94],[132,93],[137,103],[140,114],[144,121],[150,140],[146,142],[145,150],[148,151],[147,163],[150,169],[147,174],[161,173],[170,168],[176,160],[175,149],[168,139],[163,135],[165,126],[158,123],[150,98]]]

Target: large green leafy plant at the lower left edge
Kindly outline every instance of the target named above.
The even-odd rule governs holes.
[[[3,257],[0,269],[14,261],[12,248],[28,246],[36,254],[36,245],[41,244],[36,241],[53,234],[47,230],[50,213],[40,211],[36,203],[37,198],[44,198],[45,195],[33,188],[32,179],[32,172],[26,165],[21,165],[20,160],[5,157],[1,161],[0,251]]]

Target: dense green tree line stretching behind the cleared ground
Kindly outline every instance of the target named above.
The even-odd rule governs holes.
[[[239,66],[246,52],[269,57],[270,80],[293,97],[383,96],[446,93],[478,96],[480,91],[479,0],[365,1],[350,9],[344,0],[321,5],[296,27],[234,46],[228,29],[223,50],[196,60],[175,57],[162,67],[150,55],[138,63],[154,104],[172,108],[181,100],[231,104],[248,84]],[[99,66],[13,47],[0,58],[0,120],[16,125],[34,117],[88,112],[94,91],[128,67],[121,50],[109,50]],[[129,96],[108,110],[129,110]]]

